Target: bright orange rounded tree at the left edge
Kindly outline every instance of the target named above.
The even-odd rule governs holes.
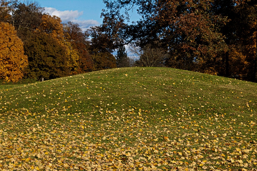
[[[14,27],[0,22],[0,78],[17,82],[23,77],[28,58],[24,55],[23,43]]]

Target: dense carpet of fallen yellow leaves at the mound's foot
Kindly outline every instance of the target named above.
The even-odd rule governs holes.
[[[131,109],[1,114],[1,170],[256,170],[256,123]],[[226,119],[227,118],[227,119]],[[239,120],[239,119],[237,119]],[[225,124],[226,123],[226,124]]]

